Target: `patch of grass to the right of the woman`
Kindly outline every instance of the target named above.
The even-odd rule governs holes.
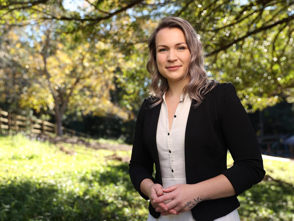
[[[233,159],[228,154],[228,166]],[[243,221],[294,220],[294,163],[264,159],[268,180],[254,185],[238,196]]]

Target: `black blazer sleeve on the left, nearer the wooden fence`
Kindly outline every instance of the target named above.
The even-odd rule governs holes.
[[[141,192],[141,182],[143,181],[143,179],[149,178],[155,183],[155,179],[152,176],[154,162],[143,141],[143,126],[147,103],[148,99],[145,98],[138,113],[135,126],[132,155],[129,164],[129,174],[131,181],[141,197],[146,200],[148,200],[149,197]]]

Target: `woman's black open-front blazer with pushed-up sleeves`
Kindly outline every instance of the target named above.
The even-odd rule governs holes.
[[[195,184],[220,174],[233,185],[236,194],[231,197],[206,200],[192,208],[197,221],[212,221],[225,216],[240,206],[237,196],[260,182],[265,171],[258,141],[250,119],[236,94],[232,83],[219,83],[204,95],[198,108],[192,99],[185,132],[185,168],[187,184]],[[135,127],[129,174],[135,189],[140,190],[143,179],[152,179],[162,185],[156,145],[156,131],[161,104],[150,108],[150,97],[145,98]],[[234,164],[227,169],[227,151]],[[152,176],[155,163],[155,179]],[[150,214],[158,218],[149,202]]]

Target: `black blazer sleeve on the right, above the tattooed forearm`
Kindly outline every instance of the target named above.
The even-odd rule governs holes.
[[[222,171],[233,185],[236,196],[262,181],[265,170],[252,123],[232,83],[218,91],[220,127],[234,163]]]

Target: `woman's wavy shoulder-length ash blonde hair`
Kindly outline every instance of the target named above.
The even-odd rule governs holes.
[[[188,49],[191,52],[185,77],[189,74],[191,80],[183,88],[183,94],[189,93],[191,99],[196,100],[196,104],[193,106],[194,108],[197,108],[204,99],[203,95],[216,87],[219,82],[217,80],[207,79],[207,72],[204,69],[205,54],[200,41],[200,35],[196,33],[189,22],[179,17],[166,17],[161,19],[148,40],[149,56],[146,67],[152,77],[149,98],[151,98],[150,101],[153,103],[150,105],[150,108],[153,108],[162,102],[163,94],[168,89],[168,81],[160,74],[156,64],[155,39],[158,31],[163,28],[179,28],[185,35]]]

